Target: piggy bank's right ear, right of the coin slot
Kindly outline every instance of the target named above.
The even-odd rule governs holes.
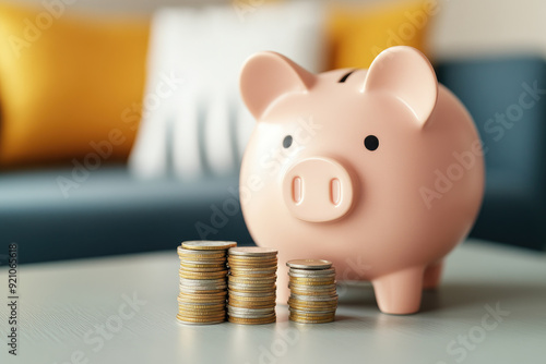
[[[425,54],[415,48],[399,46],[383,50],[371,62],[363,90],[392,94],[424,126],[436,106],[438,81]]]

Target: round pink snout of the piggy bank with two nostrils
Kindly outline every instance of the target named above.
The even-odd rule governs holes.
[[[283,196],[286,207],[296,218],[309,222],[332,221],[351,209],[353,180],[336,160],[308,158],[287,170]]]

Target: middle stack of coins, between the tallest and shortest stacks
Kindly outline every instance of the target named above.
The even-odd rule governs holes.
[[[232,247],[228,252],[228,320],[235,324],[271,324],[276,319],[277,251],[268,247]]]

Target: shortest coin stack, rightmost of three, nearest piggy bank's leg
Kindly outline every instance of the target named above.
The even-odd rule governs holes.
[[[286,265],[290,296],[289,319],[304,324],[322,324],[334,320],[337,308],[335,269],[329,260],[297,259]]]

